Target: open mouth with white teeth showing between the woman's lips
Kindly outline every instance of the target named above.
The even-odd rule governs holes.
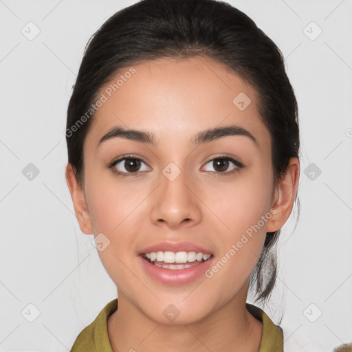
[[[212,258],[212,254],[202,252],[151,252],[140,254],[148,263],[168,270],[184,270],[194,267]]]

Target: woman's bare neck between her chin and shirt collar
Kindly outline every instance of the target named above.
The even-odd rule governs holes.
[[[243,292],[245,295],[238,292],[227,304],[185,325],[155,322],[118,292],[118,309],[108,319],[111,347],[114,352],[258,352],[262,323],[246,309],[246,287]]]

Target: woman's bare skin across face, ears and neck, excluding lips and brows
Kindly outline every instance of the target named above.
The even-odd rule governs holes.
[[[259,351],[262,324],[245,308],[249,278],[266,232],[280,229],[292,212],[298,159],[290,160],[274,186],[271,137],[259,118],[258,95],[224,65],[196,56],[133,67],[135,74],[94,116],[84,144],[82,187],[72,166],[66,168],[80,229],[95,236],[102,232],[110,241],[98,254],[118,291],[118,310],[107,324],[111,347]],[[252,100],[244,111],[232,103],[240,92]],[[250,131],[259,147],[241,135],[197,148],[190,143],[200,131],[230,124]],[[157,146],[113,138],[96,148],[102,135],[118,125],[153,133]],[[134,166],[139,176],[120,177],[107,167],[128,153],[142,159],[140,169]],[[219,168],[209,161],[223,153],[244,167],[225,175],[237,167],[229,162],[222,175],[214,175]],[[162,173],[170,162],[181,171],[173,181]],[[123,161],[115,169],[126,173],[124,166]],[[271,219],[212,278],[170,287],[148,276],[137,261],[147,245],[186,240],[211,249],[216,263],[272,208]],[[163,314],[170,303],[180,312],[173,322]]]

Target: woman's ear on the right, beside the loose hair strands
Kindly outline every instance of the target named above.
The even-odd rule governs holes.
[[[274,191],[272,208],[276,212],[267,221],[267,232],[280,230],[294,207],[294,199],[298,190],[300,164],[296,157],[289,159],[289,166],[283,177],[278,181]]]

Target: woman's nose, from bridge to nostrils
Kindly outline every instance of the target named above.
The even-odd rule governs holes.
[[[195,225],[201,219],[201,200],[197,197],[196,182],[187,178],[186,171],[179,173],[177,170],[171,166],[160,175],[151,211],[153,223],[173,229]]]

